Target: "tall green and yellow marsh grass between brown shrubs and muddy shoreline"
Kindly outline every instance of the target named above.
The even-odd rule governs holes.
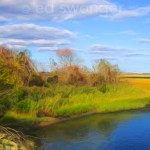
[[[11,111],[5,114],[4,118],[36,123],[42,117],[68,117],[89,112],[115,112],[144,108],[150,104],[149,90],[127,83],[107,85],[105,92],[102,87],[69,85],[55,85],[49,89],[36,90],[38,98],[35,98],[30,89],[29,91],[32,92],[29,92],[23,100],[18,101]],[[43,91],[44,96],[42,95]]]

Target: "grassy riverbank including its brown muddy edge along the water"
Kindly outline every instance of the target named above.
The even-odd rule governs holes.
[[[124,82],[107,85],[105,89],[54,85],[28,90],[29,96],[0,119],[0,124],[27,135],[33,130],[94,114],[150,110],[150,91]],[[41,96],[43,93],[45,96]]]

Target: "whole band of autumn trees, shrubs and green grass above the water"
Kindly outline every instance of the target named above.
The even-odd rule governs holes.
[[[86,113],[150,107],[147,76],[124,76],[106,60],[87,69],[68,48],[59,49],[57,56],[51,71],[41,73],[27,51],[0,48],[2,125],[26,129]]]

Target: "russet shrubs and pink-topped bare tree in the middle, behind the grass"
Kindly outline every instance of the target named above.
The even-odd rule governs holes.
[[[57,76],[58,82],[72,85],[100,86],[104,83],[116,83],[119,81],[120,70],[106,60],[100,60],[96,70],[89,71],[82,67],[76,58],[73,49],[58,49],[56,52],[59,64],[50,72],[50,76]]]

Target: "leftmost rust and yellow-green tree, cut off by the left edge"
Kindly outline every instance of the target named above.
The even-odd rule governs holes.
[[[13,51],[0,47],[0,95],[6,94],[16,85],[22,85],[20,66]]]

